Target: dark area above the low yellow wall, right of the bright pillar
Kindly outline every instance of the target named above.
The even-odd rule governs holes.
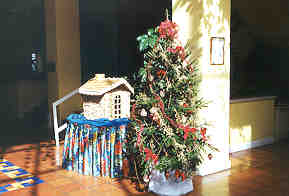
[[[288,13],[284,0],[232,0],[233,98],[274,95],[288,103]]]

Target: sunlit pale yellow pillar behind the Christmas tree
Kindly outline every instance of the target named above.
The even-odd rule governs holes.
[[[201,175],[230,167],[229,97],[230,97],[230,0],[173,0],[173,20],[179,25],[179,39],[198,57],[202,76],[201,96],[209,101],[200,113],[208,124],[211,143],[220,152],[199,168]],[[210,65],[211,37],[225,38],[224,65]]]

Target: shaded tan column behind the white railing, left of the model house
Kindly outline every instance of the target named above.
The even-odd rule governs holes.
[[[56,64],[48,73],[48,101],[52,102],[80,87],[80,32],[78,0],[45,0],[47,62]],[[75,96],[59,106],[60,119],[79,110]]]

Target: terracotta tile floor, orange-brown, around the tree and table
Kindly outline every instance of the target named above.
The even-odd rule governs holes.
[[[0,146],[1,147],[1,146]],[[0,151],[1,152],[1,151]],[[2,148],[2,158],[37,176],[44,183],[3,193],[4,196],[151,195],[140,193],[128,180],[81,176],[55,166],[53,141]],[[194,178],[188,196],[289,196],[289,142],[283,141],[231,155],[232,168]],[[0,186],[12,183],[0,174]],[[2,196],[1,195],[1,196]]]

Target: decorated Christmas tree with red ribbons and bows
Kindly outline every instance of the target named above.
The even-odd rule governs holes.
[[[168,19],[137,41],[144,64],[134,81],[127,155],[139,182],[148,182],[152,169],[167,177],[173,171],[184,180],[208,150],[216,150],[197,120],[198,111],[206,107],[199,96],[197,61],[178,41],[177,24]]]

